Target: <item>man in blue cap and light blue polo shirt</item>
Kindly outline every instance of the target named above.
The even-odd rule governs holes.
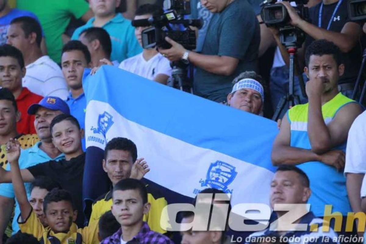
[[[37,142],[33,147],[22,150],[19,158],[19,166],[21,169],[47,162],[50,160],[59,161],[64,158],[64,155],[53,145],[49,126],[51,121],[61,113],[70,114],[66,102],[58,97],[44,97],[38,104],[33,104],[29,107],[28,113],[35,115],[34,127],[40,142]],[[10,165],[7,165],[7,170],[10,170]],[[30,183],[25,183],[27,194],[30,194]],[[0,236],[3,236],[4,230],[10,220],[12,206],[14,204],[14,189],[12,184],[0,184]],[[15,201],[15,215],[19,216],[20,210],[18,202]],[[13,234],[18,232],[19,226],[16,217],[12,222]]]

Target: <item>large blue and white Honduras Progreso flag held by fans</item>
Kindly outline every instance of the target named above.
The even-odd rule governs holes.
[[[194,198],[214,187],[231,193],[233,205],[269,203],[275,122],[107,65],[86,72],[83,87],[88,149],[126,137],[150,166],[145,177],[169,192]],[[96,187],[84,194],[93,199],[101,182],[89,181]]]

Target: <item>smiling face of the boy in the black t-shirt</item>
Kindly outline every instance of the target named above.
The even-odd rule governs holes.
[[[69,120],[63,120],[52,127],[52,141],[64,154],[77,153],[81,149],[83,131]]]

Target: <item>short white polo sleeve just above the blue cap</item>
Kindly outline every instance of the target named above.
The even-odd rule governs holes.
[[[48,78],[42,84],[42,91],[44,96],[55,96],[61,98],[62,100],[66,100],[68,96],[66,81],[60,76]]]

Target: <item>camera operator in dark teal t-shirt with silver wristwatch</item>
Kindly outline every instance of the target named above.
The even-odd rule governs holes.
[[[197,67],[194,93],[225,102],[236,76],[257,71],[259,24],[247,0],[202,0],[201,4],[213,13],[202,53],[188,51],[170,38],[166,41],[172,47],[159,52],[171,61],[189,60]]]

